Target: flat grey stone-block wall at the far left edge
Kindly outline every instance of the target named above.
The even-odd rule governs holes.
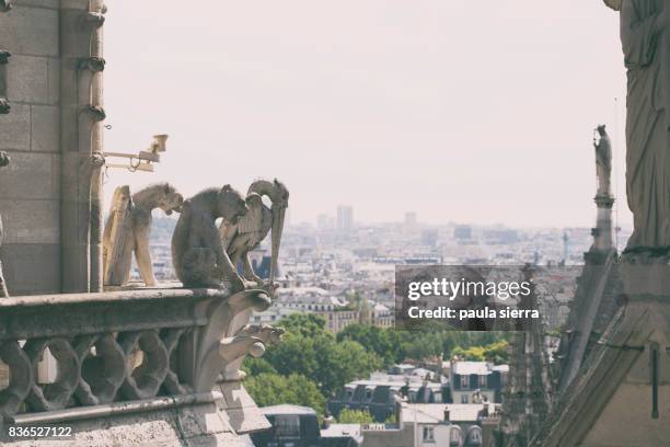
[[[9,114],[0,115],[0,249],[11,295],[60,291],[58,0],[14,0],[0,13]]]

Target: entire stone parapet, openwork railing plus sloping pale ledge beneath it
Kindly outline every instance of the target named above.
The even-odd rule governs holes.
[[[71,445],[145,445],[147,427],[161,445],[235,445],[268,423],[221,373],[263,353],[263,334],[239,329],[269,305],[263,290],[213,289],[2,299],[0,425],[71,426]]]

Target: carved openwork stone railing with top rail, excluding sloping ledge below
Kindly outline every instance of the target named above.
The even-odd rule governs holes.
[[[2,299],[0,360],[9,366],[10,379],[0,390],[0,416],[21,424],[94,416],[113,412],[118,402],[124,411],[134,405],[146,411],[151,402],[164,405],[162,398],[174,405],[197,401],[211,393],[231,364],[263,353],[264,332],[252,336],[240,330],[251,310],[269,306],[263,290]],[[50,379],[39,377],[47,357],[57,369]]]

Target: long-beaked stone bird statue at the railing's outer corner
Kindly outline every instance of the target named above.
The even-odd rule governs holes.
[[[267,196],[272,208],[263,204],[263,196]],[[256,275],[249,260],[249,252],[257,248],[261,242],[272,233],[272,262],[269,274],[269,289],[274,289],[275,274],[277,272],[277,257],[284,231],[284,219],[288,207],[289,192],[286,186],[275,179],[274,182],[258,180],[249,187],[246,203],[249,213],[236,224],[223,221],[219,228],[223,247],[233,265],[242,263],[244,277],[263,285],[263,279]]]

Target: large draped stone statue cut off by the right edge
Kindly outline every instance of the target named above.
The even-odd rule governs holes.
[[[626,251],[670,251],[670,13],[659,0],[607,0],[620,11],[628,77],[626,191],[634,231]]]

